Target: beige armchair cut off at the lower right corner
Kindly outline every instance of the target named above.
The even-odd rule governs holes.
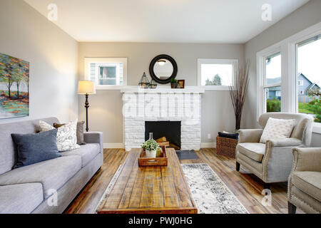
[[[310,214],[321,213],[321,148],[293,149],[294,162],[289,177],[289,214],[297,207]]]

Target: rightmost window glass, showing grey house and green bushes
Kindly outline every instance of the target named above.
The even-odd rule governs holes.
[[[297,112],[321,123],[321,35],[297,43],[296,53]]]

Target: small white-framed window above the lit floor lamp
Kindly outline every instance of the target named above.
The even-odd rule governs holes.
[[[97,89],[126,86],[127,58],[85,58],[85,78]]]

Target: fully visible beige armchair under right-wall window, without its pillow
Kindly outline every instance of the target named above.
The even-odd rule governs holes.
[[[287,182],[293,162],[292,148],[310,146],[313,125],[309,115],[265,113],[259,118],[262,128],[270,117],[295,120],[290,138],[260,143],[262,129],[239,130],[239,144],[236,147],[236,170],[239,171],[240,165],[243,165],[265,182],[265,188],[270,188],[272,182]]]

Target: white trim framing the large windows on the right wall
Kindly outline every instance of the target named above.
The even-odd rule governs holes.
[[[296,43],[307,40],[313,36],[321,33],[321,22],[311,26],[299,33],[296,33],[283,41],[275,43],[274,45],[265,48],[263,51],[257,53],[257,120],[264,113],[264,97],[263,97],[263,76],[264,76],[264,59],[272,53],[281,51],[282,56],[282,103],[281,111],[284,113],[297,113],[297,78],[293,77],[297,74],[296,63]],[[313,124],[313,132],[321,134],[321,124]]]

